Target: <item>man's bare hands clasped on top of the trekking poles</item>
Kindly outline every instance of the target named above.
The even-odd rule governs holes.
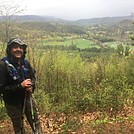
[[[32,90],[33,90],[31,79],[26,79],[26,80],[24,80],[24,81],[21,83],[21,86],[22,86],[23,88],[25,88],[26,91],[28,91],[28,92],[32,92]]]

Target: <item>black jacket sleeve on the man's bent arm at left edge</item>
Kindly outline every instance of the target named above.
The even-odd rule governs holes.
[[[6,64],[3,61],[0,61],[0,94],[4,94],[6,92],[15,92],[19,89],[22,89],[21,84],[13,84],[8,85],[7,80],[9,78],[9,74],[7,71]]]

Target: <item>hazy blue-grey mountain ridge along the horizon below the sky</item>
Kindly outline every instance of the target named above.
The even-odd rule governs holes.
[[[118,24],[123,20],[134,20],[134,16],[119,16],[119,17],[103,17],[103,18],[91,18],[91,19],[80,19],[77,21],[67,21],[60,18],[55,18],[53,16],[38,16],[38,15],[22,15],[22,16],[14,16],[18,21],[40,21],[40,22],[48,22],[48,21],[56,21],[56,22],[64,22],[71,23],[77,25],[114,25]],[[3,17],[0,16],[0,20]]]

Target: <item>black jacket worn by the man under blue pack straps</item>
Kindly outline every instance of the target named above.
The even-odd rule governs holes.
[[[22,88],[21,82],[24,79],[30,78],[33,82],[33,89],[35,89],[35,71],[27,62],[27,75],[23,78],[23,71],[20,70],[20,67],[24,66],[24,62],[21,65],[15,63],[13,60],[10,60],[13,66],[18,71],[20,79],[13,80],[10,76],[7,65],[4,61],[0,61],[0,93],[3,94],[3,99],[7,104],[17,105],[24,102],[25,89]]]

